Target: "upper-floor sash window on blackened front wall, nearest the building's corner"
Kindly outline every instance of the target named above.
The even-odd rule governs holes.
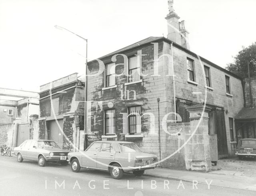
[[[138,56],[129,58],[129,81],[134,82],[140,80],[140,65],[138,63]]]

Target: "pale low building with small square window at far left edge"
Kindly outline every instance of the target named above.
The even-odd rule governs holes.
[[[0,145],[10,147],[32,139],[32,120],[38,117],[38,93],[0,88]]]

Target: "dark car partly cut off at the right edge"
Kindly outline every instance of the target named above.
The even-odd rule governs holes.
[[[240,139],[237,145],[236,155],[239,159],[244,157],[256,157],[256,139]]]

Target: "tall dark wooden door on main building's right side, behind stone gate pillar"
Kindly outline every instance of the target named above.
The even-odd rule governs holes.
[[[228,156],[228,143],[226,135],[225,115],[224,110],[216,109],[214,111],[215,129],[218,143],[218,157]]]

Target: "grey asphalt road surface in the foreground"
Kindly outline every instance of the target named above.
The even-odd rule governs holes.
[[[107,172],[81,169],[75,173],[70,165],[48,164],[38,166],[37,162],[16,157],[0,156],[0,195],[119,195],[119,196],[167,196],[167,195],[255,195],[256,192],[193,184],[148,176],[135,177],[124,174],[121,180],[114,180]],[[209,180],[210,183],[210,180]],[[208,189],[209,188],[209,189]]]

